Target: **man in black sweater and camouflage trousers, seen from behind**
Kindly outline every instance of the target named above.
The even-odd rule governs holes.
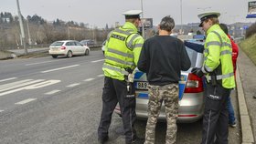
[[[145,142],[155,143],[155,124],[162,102],[165,102],[167,131],[165,143],[176,143],[176,118],[178,109],[178,81],[181,70],[190,68],[183,42],[170,36],[175,21],[165,16],[160,25],[159,36],[144,42],[137,67],[146,73],[148,80],[149,102]]]

